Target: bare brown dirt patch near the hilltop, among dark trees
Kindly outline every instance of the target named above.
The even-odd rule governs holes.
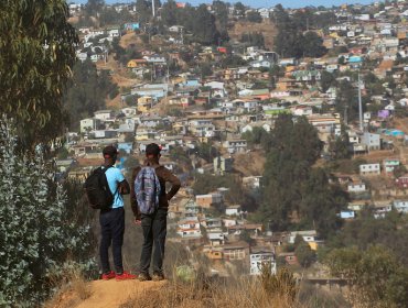
[[[237,21],[234,26],[228,30],[228,35],[230,38],[238,40],[244,33],[262,33],[265,38],[265,47],[268,50],[273,50],[273,38],[278,31],[272,22],[264,21],[261,23],[248,22],[248,21]]]

